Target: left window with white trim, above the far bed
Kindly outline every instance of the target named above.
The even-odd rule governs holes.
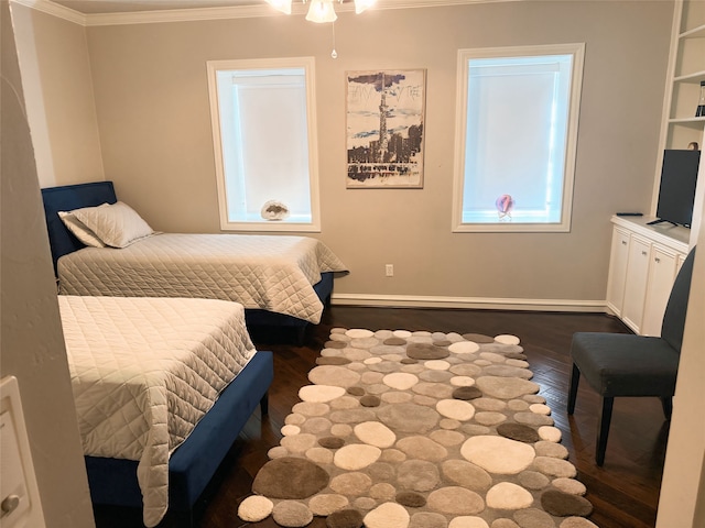
[[[314,59],[207,68],[220,228],[321,231]]]

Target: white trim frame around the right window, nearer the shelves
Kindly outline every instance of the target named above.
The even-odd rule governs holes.
[[[573,55],[571,88],[568,96],[568,122],[566,127],[565,160],[563,165],[563,201],[561,221],[556,223],[464,223],[463,193],[465,187],[465,143],[467,130],[466,119],[468,105],[467,92],[469,68],[468,62],[473,58],[522,57],[541,55]],[[452,232],[470,233],[571,231],[584,58],[585,43],[458,50]]]

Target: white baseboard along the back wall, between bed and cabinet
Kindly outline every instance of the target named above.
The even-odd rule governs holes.
[[[436,297],[411,295],[333,294],[333,305],[389,308],[466,308],[527,311],[607,312],[605,300],[512,299],[486,297]]]

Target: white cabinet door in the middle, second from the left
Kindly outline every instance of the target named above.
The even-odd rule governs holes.
[[[647,297],[650,250],[651,244],[648,240],[634,235],[631,237],[621,318],[637,333],[640,333]]]

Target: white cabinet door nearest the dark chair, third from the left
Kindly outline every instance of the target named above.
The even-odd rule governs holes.
[[[650,258],[641,333],[661,336],[663,312],[675,280],[677,255],[665,248],[653,245]]]

